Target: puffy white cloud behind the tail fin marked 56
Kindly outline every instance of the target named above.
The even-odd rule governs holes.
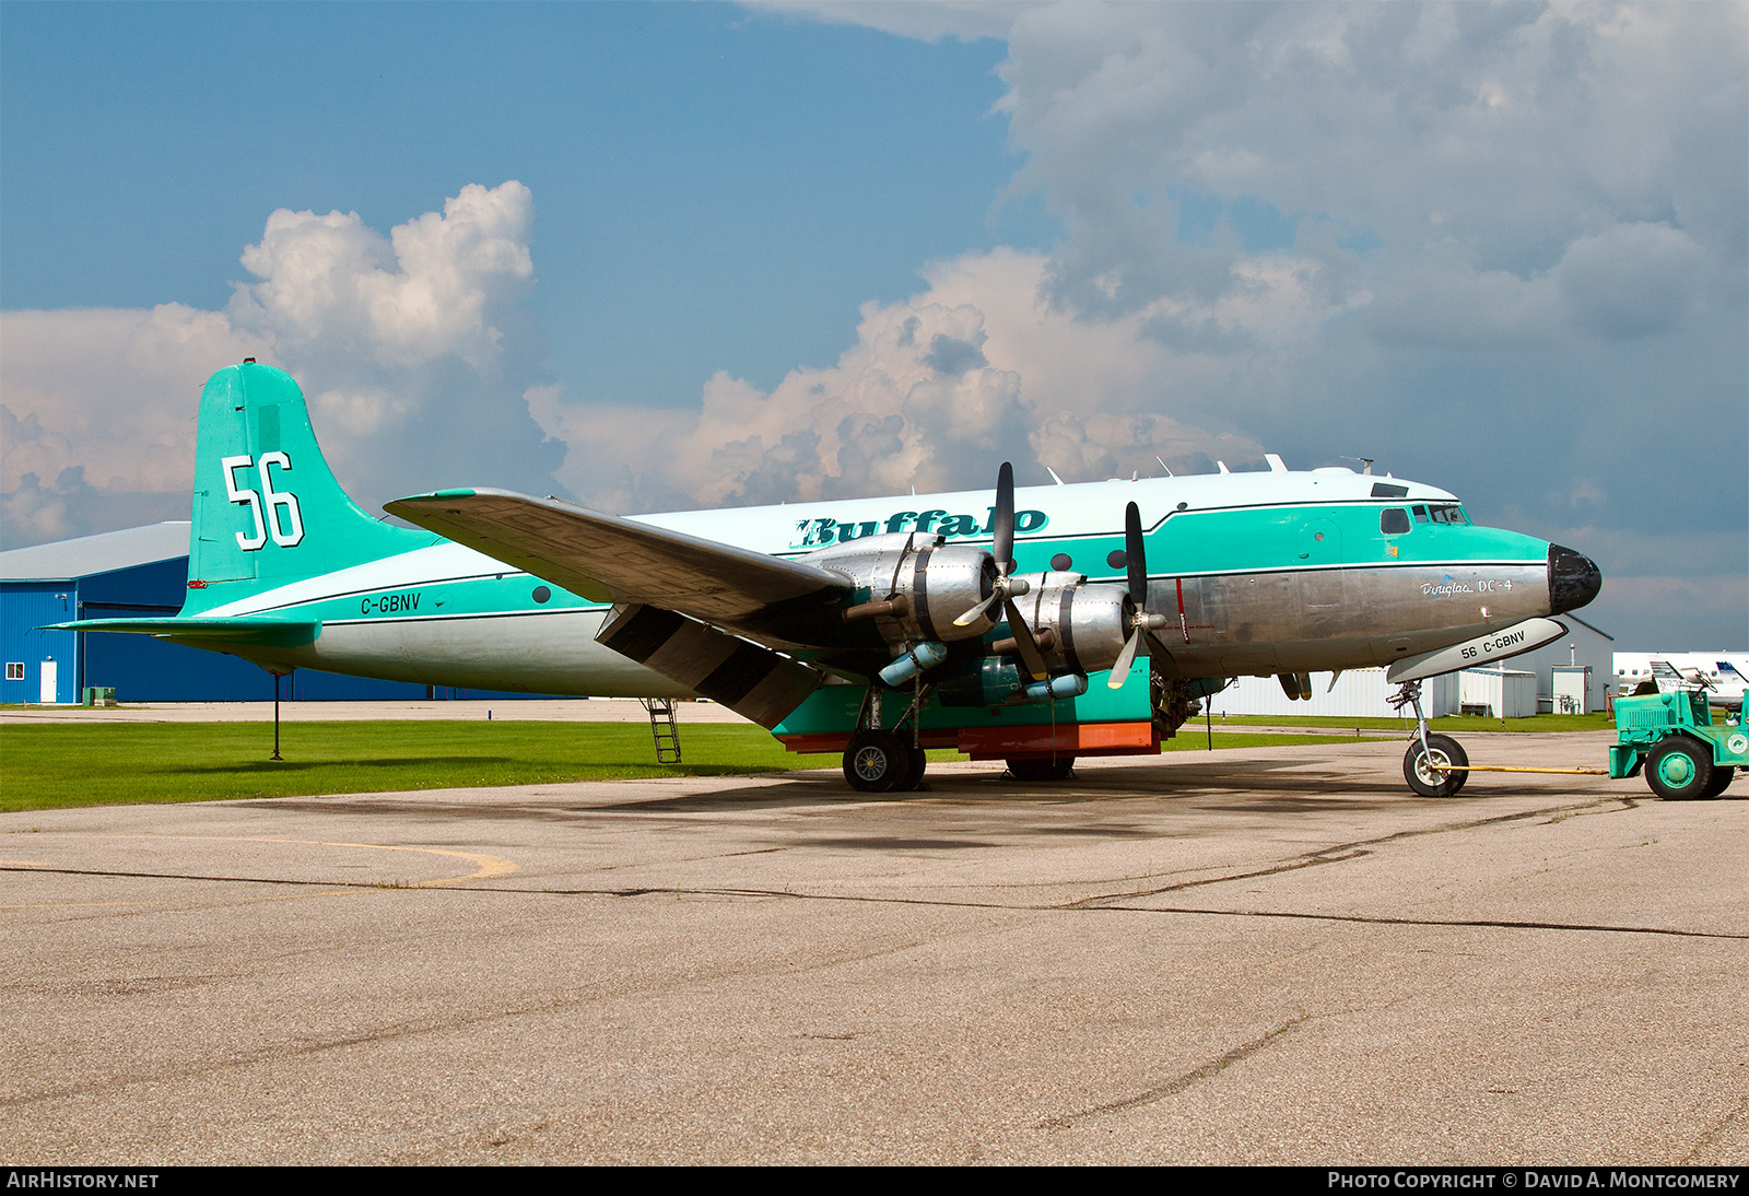
[[[521,308],[532,224],[514,180],[467,185],[387,238],[357,213],[282,208],[243,250],[255,282],[224,311],[0,315],[5,542],[185,518],[199,388],[243,357],[297,378],[336,474],[367,507],[551,476],[560,449],[525,399],[547,381]]]

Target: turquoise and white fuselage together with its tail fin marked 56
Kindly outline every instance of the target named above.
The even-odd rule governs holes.
[[[551,694],[687,692],[595,640],[610,608],[603,595],[579,596],[360,511],[322,458],[303,393],[280,371],[247,362],[213,376],[196,469],[184,612],[73,626],[152,633],[273,670]],[[1121,586],[1132,502],[1146,539],[1147,610],[1165,621],[1156,638],[1167,654],[1156,650],[1153,664],[1170,678],[1390,664],[1504,631],[1567,608],[1553,593],[1572,589],[1562,560],[1590,570],[1588,582],[1579,579],[1590,591],[1571,605],[1595,593],[1585,558],[1478,528],[1443,490],[1347,469],[1021,488],[1018,574]],[[633,523],[829,565],[845,546],[895,533],[988,546],[993,509],[986,490],[967,490]],[[784,635],[766,640],[789,650]]]

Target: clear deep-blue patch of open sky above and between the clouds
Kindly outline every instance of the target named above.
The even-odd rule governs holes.
[[[731,5],[7,3],[0,306],[220,308],[275,208],[388,229],[535,194],[577,397],[696,402],[831,362],[932,257],[1042,245],[1000,42]],[[149,234],[142,236],[142,231]],[[672,334],[686,325],[686,337]]]

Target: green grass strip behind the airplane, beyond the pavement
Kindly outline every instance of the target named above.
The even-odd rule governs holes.
[[[1167,743],[1200,752],[1186,726]],[[1217,748],[1352,736],[1231,734]],[[656,764],[649,727],[616,722],[294,722],[273,754],[261,722],[49,722],[0,731],[0,811],[166,801],[539,785],[638,776],[722,776],[838,768],[794,755],[749,726],[682,726],[684,764]],[[964,759],[930,752],[932,761]]]

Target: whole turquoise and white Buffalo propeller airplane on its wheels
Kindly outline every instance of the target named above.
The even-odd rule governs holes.
[[[859,790],[915,789],[923,752],[1063,780],[1158,752],[1238,675],[1310,698],[1313,671],[1417,682],[1565,635],[1585,556],[1474,526],[1443,490],[1348,469],[857,498],[633,519],[442,490],[373,519],[303,392],[247,360],[201,395],[189,593],[161,619],[86,619],[317,668],[542,694],[703,696]],[[1107,673],[1093,684],[1091,677]],[[1417,712],[1418,712],[1418,701]],[[1462,748],[1404,759],[1452,794]]]

